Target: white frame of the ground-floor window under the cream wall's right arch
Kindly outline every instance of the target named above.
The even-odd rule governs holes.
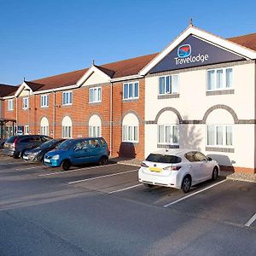
[[[208,126],[213,126],[214,127],[214,144],[209,144],[208,143]],[[227,136],[227,133],[226,133],[226,128],[227,127],[231,127],[232,129],[232,145],[227,145],[226,144],[226,136]],[[222,127],[222,130],[223,130],[223,138],[222,138],[222,141],[223,143],[221,145],[218,145],[217,144],[217,127]],[[223,125],[223,124],[219,124],[219,125],[211,125],[211,124],[207,124],[207,131],[206,131],[206,134],[207,134],[207,137],[206,137],[206,140],[207,140],[207,147],[214,147],[214,148],[234,148],[235,147],[235,136],[234,136],[234,125]]]

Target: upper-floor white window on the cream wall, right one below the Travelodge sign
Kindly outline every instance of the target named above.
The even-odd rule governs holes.
[[[207,70],[207,90],[227,90],[233,87],[232,68]]]

